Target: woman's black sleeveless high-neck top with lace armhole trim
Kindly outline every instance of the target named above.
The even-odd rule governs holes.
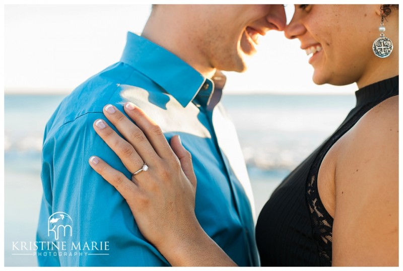
[[[339,128],[276,188],[256,225],[262,266],[331,266],[333,218],[317,191],[319,166],[331,146],[371,108],[398,95],[398,76],[356,91],[357,103]]]

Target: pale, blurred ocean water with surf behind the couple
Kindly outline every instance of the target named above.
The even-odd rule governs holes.
[[[35,241],[42,186],[45,124],[64,96],[5,95],[5,265],[36,266],[32,255],[13,255],[12,243]],[[227,95],[258,214],[273,190],[339,126],[355,97]]]

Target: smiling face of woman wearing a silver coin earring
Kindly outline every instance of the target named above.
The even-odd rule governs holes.
[[[379,10],[380,5],[295,5],[285,35],[300,40],[314,83],[347,85],[369,73],[378,61],[372,43],[379,37]]]

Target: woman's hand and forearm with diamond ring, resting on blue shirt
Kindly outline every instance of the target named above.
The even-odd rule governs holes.
[[[91,167],[126,199],[144,237],[173,266],[235,266],[196,219],[196,177],[179,137],[170,146],[140,108],[126,103],[124,110],[137,126],[112,105],[105,106],[104,114],[125,139],[103,120],[96,120],[94,129],[130,172],[144,163],[149,169],[128,179],[95,156]]]

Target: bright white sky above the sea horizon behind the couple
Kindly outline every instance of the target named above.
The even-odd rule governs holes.
[[[287,5],[288,20],[293,5]],[[151,5],[5,5],[6,94],[68,94],[117,62],[126,32],[141,33]],[[229,94],[351,94],[355,84],[312,83],[298,40],[270,31],[242,74],[225,72]]]

